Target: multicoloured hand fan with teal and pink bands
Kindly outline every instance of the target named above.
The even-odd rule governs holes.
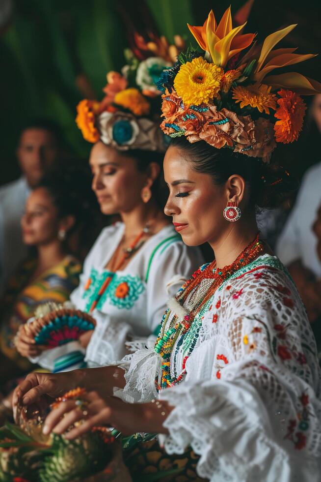
[[[78,340],[85,331],[94,330],[96,321],[88,313],[75,309],[71,303],[47,303],[39,306],[35,317],[21,328],[36,345],[48,348]]]

